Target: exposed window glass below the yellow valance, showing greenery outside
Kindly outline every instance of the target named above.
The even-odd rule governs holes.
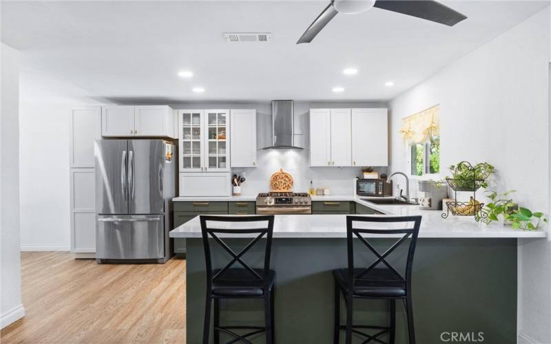
[[[440,137],[435,136],[425,143],[410,144],[411,175],[440,172]]]

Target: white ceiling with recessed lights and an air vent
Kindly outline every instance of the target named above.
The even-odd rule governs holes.
[[[444,2],[468,19],[449,28],[373,8],[339,14],[296,45],[329,1],[3,1],[1,38],[23,52],[25,69],[114,100],[388,100],[549,6]],[[272,40],[230,44],[222,32]],[[359,72],[344,76],[345,67]],[[194,77],[179,78],[183,69]]]

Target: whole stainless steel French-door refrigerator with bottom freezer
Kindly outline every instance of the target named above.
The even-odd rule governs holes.
[[[96,140],[96,261],[164,263],[176,146],[165,140]]]

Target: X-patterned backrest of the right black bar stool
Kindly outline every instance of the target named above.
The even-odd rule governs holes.
[[[361,227],[355,227],[354,223],[364,223]],[[413,223],[413,226],[408,223]],[[385,228],[366,228],[368,224],[394,224],[390,229]],[[402,227],[403,224],[403,227]],[[417,236],[419,235],[419,227],[421,226],[421,216],[347,216],[346,217],[346,239],[348,248],[348,266],[349,266],[349,286],[354,286],[355,282],[366,276],[368,272],[373,270],[377,265],[383,264],[388,270],[395,275],[396,280],[406,283],[406,292],[409,292],[411,286],[411,271],[413,265],[413,255],[415,254],[415,246],[417,244]],[[375,227],[375,226],[374,226]],[[381,226],[379,226],[381,227]],[[399,238],[392,246],[390,246],[382,254],[378,252],[369,242],[369,239],[377,236],[387,236],[396,234]],[[366,237],[364,235],[369,235]],[[370,266],[366,267],[362,272],[354,272],[354,246],[353,238],[357,237],[362,243],[375,255],[376,259]],[[401,246],[406,239],[410,237],[408,254],[406,255],[406,273],[402,276],[394,266],[392,266],[386,258],[397,247]],[[353,290],[353,288],[351,288]]]

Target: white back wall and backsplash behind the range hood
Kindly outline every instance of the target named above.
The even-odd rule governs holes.
[[[304,102],[295,101],[295,145],[303,151],[257,151],[257,167],[232,169],[232,173],[243,175],[247,181],[242,186],[242,194],[256,195],[269,191],[269,178],[272,173],[284,169],[294,180],[293,191],[308,192],[310,180],[314,187],[329,187],[333,195],[353,193],[354,179],[360,175],[360,167],[309,167],[309,109],[335,107],[386,107],[386,103],[351,102]],[[271,103],[211,103],[177,104],[174,109],[256,109],[257,148],[271,146]],[[386,168],[377,169],[386,172]]]

